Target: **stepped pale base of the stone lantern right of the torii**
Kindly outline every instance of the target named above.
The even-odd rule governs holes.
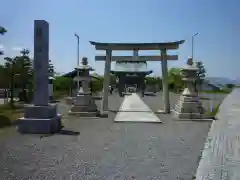
[[[198,96],[180,96],[178,104],[172,110],[173,117],[178,120],[208,120],[206,110]]]

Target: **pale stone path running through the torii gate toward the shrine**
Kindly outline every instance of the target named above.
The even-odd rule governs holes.
[[[162,121],[136,94],[125,96],[115,117],[115,122],[158,122]]]

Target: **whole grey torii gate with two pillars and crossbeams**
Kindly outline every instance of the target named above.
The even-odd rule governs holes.
[[[103,83],[103,99],[101,105],[101,113],[108,111],[108,95],[111,62],[116,60],[138,60],[138,61],[162,61],[162,84],[163,84],[163,100],[164,110],[159,112],[170,113],[170,100],[168,90],[168,60],[178,60],[177,55],[167,55],[167,50],[176,50],[180,44],[185,41],[165,42],[165,43],[101,43],[90,41],[96,50],[105,50],[106,56],[95,56],[96,61],[105,61],[104,83]],[[159,50],[160,56],[138,56],[139,50]],[[133,51],[133,56],[112,56],[112,51]]]

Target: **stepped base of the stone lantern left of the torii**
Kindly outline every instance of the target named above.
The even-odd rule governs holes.
[[[69,115],[79,115],[85,117],[98,116],[99,111],[91,94],[78,94],[74,100],[72,108],[69,111]]]

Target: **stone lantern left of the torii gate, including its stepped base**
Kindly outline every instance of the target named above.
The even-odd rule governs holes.
[[[93,71],[92,67],[88,65],[87,58],[83,58],[81,65],[75,68],[77,76],[74,81],[81,82],[81,87],[77,91],[76,97],[73,99],[73,106],[69,111],[70,115],[80,116],[97,116],[99,111],[95,104],[95,100],[92,97],[92,93],[89,91],[89,84],[91,81],[90,71]]]

